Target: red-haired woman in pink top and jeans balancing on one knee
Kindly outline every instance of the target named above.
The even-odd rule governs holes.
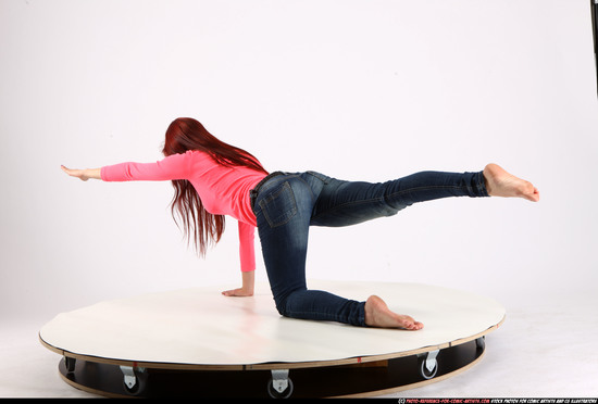
[[[519,197],[537,202],[534,186],[496,164],[478,173],[423,172],[381,182],[342,181],[320,173],[269,174],[248,152],[212,136],[196,119],[175,119],[157,163],[121,163],[92,169],[62,169],[82,180],[172,180],[173,215],[201,254],[224,231],[224,216],[238,220],[242,286],[227,296],[253,294],[258,227],[265,268],[283,316],[354,326],[419,330],[423,324],[391,312],[378,296],[365,302],[308,290],[306,255],[310,226],[349,226],[395,215],[415,202],[447,197]],[[176,217],[175,217],[176,219]]]

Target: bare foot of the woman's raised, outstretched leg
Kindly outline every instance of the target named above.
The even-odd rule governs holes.
[[[488,164],[484,168],[486,189],[490,197],[523,198],[538,202],[540,194],[531,182],[507,173],[496,164]]]

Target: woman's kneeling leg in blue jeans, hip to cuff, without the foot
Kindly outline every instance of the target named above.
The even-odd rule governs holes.
[[[307,288],[306,258],[314,203],[314,189],[298,176],[276,177],[256,199],[253,210],[276,308],[287,317],[364,326],[364,302]]]

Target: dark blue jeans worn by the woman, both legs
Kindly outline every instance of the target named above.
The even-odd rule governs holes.
[[[344,181],[315,172],[271,174],[251,191],[251,204],[278,313],[365,326],[365,302],[308,290],[310,226],[350,226],[448,197],[488,197],[482,172],[422,172],[378,184]]]

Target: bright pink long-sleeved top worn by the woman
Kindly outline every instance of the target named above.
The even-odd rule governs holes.
[[[209,154],[189,150],[155,163],[121,163],[101,168],[104,181],[187,179],[211,214],[228,215],[238,220],[239,254],[242,272],[256,269],[256,215],[249,191],[266,175],[247,167],[226,167]]]

